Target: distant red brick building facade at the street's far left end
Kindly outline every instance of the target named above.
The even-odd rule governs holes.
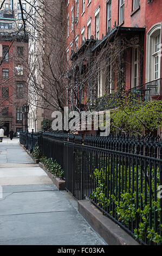
[[[28,99],[28,36],[0,36],[0,125],[9,135],[25,129],[23,105]]]

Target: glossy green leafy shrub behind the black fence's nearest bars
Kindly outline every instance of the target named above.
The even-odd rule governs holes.
[[[138,190],[137,188],[137,181],[140,181],[141,173],[143,170],[140,169],[138,166],[138,174],[137,174],[137,167],[129,169],[129,181],[127,176],[125,175],[127,170],[125,166],[122,166],[122,170],[119,169],[117,166],[114,168],[114,173],[108,172],[108,169],[111,170],[111,163],[107,169],[95,169],[94,175],[91,176],[92,179],[95,181],[95,190],[92,193],[92,199],[96,200],[96,203],[101,206],[101,208],[107,208],[109,215],[113,216],[112,209],[115,212],[116,218],[119,222],[124,225],[132,225],[133,233],[135,239],[144,240],[145,237],[147,238],[148,244],[151,242],[156,243],[157,245],[161,245],[162,237],[160,236],[160,230],[162,225],[157,225],[157,231],[154,231],[154,223],[158,221],[160,223],[160,199],[157,198],[154,200],[154,168],[146,167],[147,175],[143,177],[142,184],[138,182]],[[122,174],[121,174],[122,172]],[[150,186],[149,186],[149,172],[152,173],[152,204],[150,206]],[[125,177],[125,179],[119,179],[119,175],[121,178]],[[133,177],[137,177],[134,179]],[[159,186],[159,168],[157,168],[157,187]],[[112,185],[112,180],[113,184]],[[145,184],[147,180],[147,185]],[[123,184],[121,183],[123,182]],[[125,187],[125,190],[118,191],[118,187],[115,184],[118,184],[118,187]],[[113,186],[113,193],[110,186]],[[141,193],[141,186],[145,187],[145,193]],[[132,188],[134,187],[134,191]],[[146,193],[147,192],[147,193]],[[144,204],[145,202],[145,204]],[[142,208],[141,208],[142,205]],[[154,216],[154,212],[156,212],[156,217]],[[151,225],[150,228],[150,214],[152,215]],[[156,219],[155,219],[156,218]],[[135,223],[139,220],[138,228],[135,227],[132,223]],[[133,222],[132,222],[133,221]]]

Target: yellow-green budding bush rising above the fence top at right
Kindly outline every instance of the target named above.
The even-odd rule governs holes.
[[[114,102],[114,97],[109,97],[105,102],[105,109]],[[122,92],[116,96],[116,109],[111,112],[111,132],[118,129],[121,132],[133,135],[153,135],[161,125],[162,101],[144,101],[138,93]]]

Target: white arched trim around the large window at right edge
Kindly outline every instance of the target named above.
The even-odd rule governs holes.
[[[151,39],[153,34],[160,30],[160,39],[161,39],[161,23],[156,23],[150,30],[147,32],[146,38],[146,83],[152,81],[152,74],[150,74],[150,66],[152,66],[152,52],[150,53]],[[160,60],[159,60],[159,70],[160,70]],[[154,79],[153,79],[154,80]]]

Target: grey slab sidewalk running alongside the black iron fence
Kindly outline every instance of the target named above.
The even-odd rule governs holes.
[[[0,143],[0,245],[107,245],[18,143]]]

